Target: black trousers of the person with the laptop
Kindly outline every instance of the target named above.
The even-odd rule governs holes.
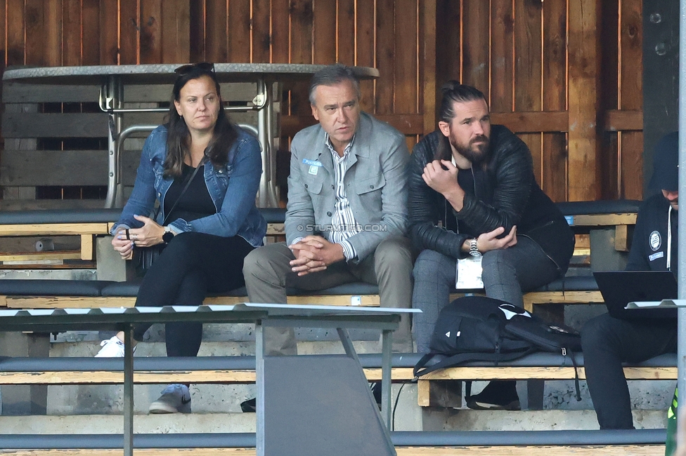
[[[628,321],[602,314],[583,326],[581,346],[600,429],[634,429],[622,363],[676,352],[676,321]]]

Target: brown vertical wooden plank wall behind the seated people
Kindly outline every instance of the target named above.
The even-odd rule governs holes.
[[[555,201],[642,196],[642,0],[0,0],[0,67],[344,62],[412,146],[447,79],[487,94]],[[4,14],[2,14],[4,12]],[[568,45],[569,43],[569,45]],[[601,65],[602,62],[602,65]],[[282,131],[313,122],[287,86]]]

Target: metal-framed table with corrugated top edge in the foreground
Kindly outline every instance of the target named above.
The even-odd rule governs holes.
[[[332,307],[295,304],[235,304],[203,306],[133,307],[102,309],[12,309],[0,310],[0,330],[55,332],[65,330],[124,331],[124,455],[133,455],[134,438],[134,360],[131,328],[137,323],[255,323],[257,377],[257,455],[265,454],[265,358],[308,358],[309,356],[264,356],[264,326],[336,328],[348,358],[362,366],[347,333],[347,328],[382,331],[382,410],[379,419],[388,445],[386,454],[395,454],[387,425],[391,419],[391,333],[401,314],[417,309],[370,307]],[[285,361],[289,361],[285,359]],[[281,362],[281,361],[280,361]],[[363,373],[361,374],[363,375]],[[367,388],[368,389],[368,388]],[[370,391],[369,400],[373,402]],[[374,408],[376,405],[373,405]],[[376,409],[375,409],[376,410]],[[385,426],[384,426],[385,424]]]

